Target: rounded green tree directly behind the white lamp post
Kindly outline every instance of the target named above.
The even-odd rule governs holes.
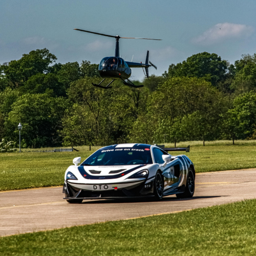
[[[58,130],[66,109],[65,99],[48,94],[25,94],[13,104],[5,122],[5,137],[18,143],[17,124],[23,125],[22,136],[29,147],[59,145]]]

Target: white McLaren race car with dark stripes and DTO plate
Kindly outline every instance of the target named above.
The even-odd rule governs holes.
[[[147,144],[116,144],[97,150],[80,165],[73,160],[65,173],[63,193],[69,203],[88,199],[117,199],[174,195],[193,197],[194,164],[185,155],[168,151],[187,148],[160,148]]]

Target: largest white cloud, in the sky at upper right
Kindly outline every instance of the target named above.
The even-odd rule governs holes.
[[[233,23],[219,23],[192,39],[195,44],[211,45],[229,38],[250,36],[254,29],[251,26]]]

